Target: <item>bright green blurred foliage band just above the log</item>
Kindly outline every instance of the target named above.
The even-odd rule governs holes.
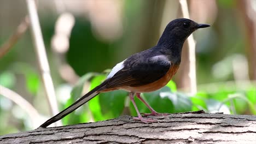
[[[91,82],[91,88],[94,88],[106,79],[106,75],[94,74],[93,78],[85,79],[92,73],[82,77],[82,81],[78,82],[73,88],[76,95],[71,97],[64,106],[71,105],[77,95],[82,95],[82,89],[86,81]],[[63,118],[64,124],[84,123],[90,121],[103,121],[110,118],[116,118],[122,115],[125,110],[125,101],[128,93],[125,91],[112,91],[101,93],[89,101],[88,104],[79,108]],[[176,84],[170,81],[165,87],[151,93],[143,93],[142,97],[158,112],[161,113],[176,113],[186,111],[205,110],[206,112],[224,112],[231,114],[251,113],[256,115],[256,89],[248,88],[246,90],[230,91],[228,89],[220,89],[216,93],[198,92],[194,97],[191,95],[177,92]],[[73,99],[75,98],[75,99]],[[150,113],[148,108],[137,98],[135,98],[138,109],[141,113]],[[82,109],[82,110],[81,110]],[[137,113],[130,102],[129,110],[132,116],[137,116]],[[79,115],[78,115],[79,114]],[[92,119],[90,119],[92,118]]]

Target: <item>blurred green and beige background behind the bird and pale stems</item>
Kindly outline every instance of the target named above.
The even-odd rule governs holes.
[[[167,23],[183,17],[179,1],[171,0],[36,2],[59,110],[100,84],[116,63],[153,47]],[[211,25],[194,32],[197,92],[189,94],[186,42],[173,80],[143,97],[158,112],[256,115],[256,1],[194,0],[188,9],[190,19]],[[51,117],[27,15],[25,0],[0,1],[0,135],[37,128]],[[23,32],[6,50],[18,26]],[[127,92],[115,91],[98,95],[62,124],[121,115],[136,112]]]

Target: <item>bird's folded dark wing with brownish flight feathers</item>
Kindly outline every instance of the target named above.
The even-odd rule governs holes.
[[[122,69],[117,71],[106,83],[107,88],[122,86],[137,87],[161,79],[171,68],[165,56],[154,56],[147,59],[127,59]]]

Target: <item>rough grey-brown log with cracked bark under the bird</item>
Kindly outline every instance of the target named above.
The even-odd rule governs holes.
[[[177,113],[145,124],[129,116],[0,136],[0,143],[256,143],[256,116]]]

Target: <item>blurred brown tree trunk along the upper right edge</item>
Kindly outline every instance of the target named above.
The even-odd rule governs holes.
[[[256,80],[256,10],[253,9],[252,2],[248,0],[238,1],[237,7],[245,21],[246,40],[248,40],[248,46],[245,49],[248,55],[249,76],[251,80]]]

